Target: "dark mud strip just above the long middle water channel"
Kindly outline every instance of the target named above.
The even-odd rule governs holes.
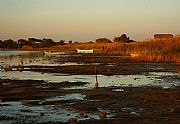
[[[15,67],[17,68],[17,67]],[[148,72],[177,72],[179,64],[167,63],[115,63],[97,65],[69,65],[69,66],[21,66],[21,71],[66,73],[66,74],[87,74],[94,75],[95,68],[98,74],[102,75],[133,75]],[[19,70],[18,70],[19,71]]]

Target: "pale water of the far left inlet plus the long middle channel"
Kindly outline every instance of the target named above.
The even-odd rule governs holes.
[[[61,57],[68,55],[61,55]],[[39,51],[0,51],[0,64],[4,65],[43,65],[43,66],[67,66],[67,65],[82,65],[73,62],[59,63],[54,58],[46,57],[43,52]],[[91,63],[97,64],[97,63]],[[165,76],[165,78],[161,78]],[[105,76],[98,75],[99,85],[101,87],[111,86],[161,86],[174,87],[179,86],[179,73],[174,72],[151,72],[141,75],[113,75]],[[176,77],[175,80],[166,77]],[[49,83],[68,82],[87,82],[83,87],[71,87],[74,89],[93,88],[95,75],[70,75],[62,73],[40,73],[31,71],[3,71],[0,72],[1,79],[16,79],[16,80],[44,80]],[[173,78],[174,79],[174,78]],[[173,83],[172,83],[173,82]]]

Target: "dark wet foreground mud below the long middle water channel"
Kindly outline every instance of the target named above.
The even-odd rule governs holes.
[[[48,87],[44,88],[47,85]],[[86,90],[63,89],[72,85],[84,85],[84,83],[64,82],[49,85],[44,81],[1,80],[0,99],[1,102],[25,100],[22,103],[25,106],[60,105],[61,107],[71,108],[77,111],[81,116],[87,116],[86,113],[89,112],[98,113],[101,111],[100,109],[106,111],[107,115],[113,115],[108,119],[78,121],[79,124],[178,124],[180,122],[179,87],[173,89],[157,87],[109,87]],[[83,94],[85,98],[83,100],[57,100],[40,103],[40,101],[52,96],[63,96],[74,93]],[[28,110],[21,111],[28,112]],[[1,115],[1,120],[16,119],[15,117],[4,117]]]

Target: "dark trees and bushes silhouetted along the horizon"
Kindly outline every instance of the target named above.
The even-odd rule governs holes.
[[[130,43],[133,40],[130,40],[126,34],[122,34],[120,37],[115,37],[113,41],[109,40],[108,38],[98,38],[96,39],[96,43],[112,43],[112,42],[121,42],[121,43]],[[78,43],[77,41],[69,41],[69,44]],[[59,42],[55,42],[52,39],[37,39],[37,38],[28,38],[26,39],[19,39],[18,41],[14,41],[12,39],[0,40],[0,48],[5,49],[18,49],[22,48],[23,46],[31,46],[32,48],[45,48],[51,47],[54,45],[65,45],[65,40],[60,40]]]

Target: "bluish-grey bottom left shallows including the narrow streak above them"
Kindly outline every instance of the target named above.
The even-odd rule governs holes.
[[[61,97],[48,98],[45,101],[56,100],[84,100],[84,95],[69,94]],[[32,100],[16,101],[16,102],[0,102],[0,113],[8,117],[13,117],[11,121],[0,121],[4,124],[11,123],[43,123],[43,122],[67,122],[69,118],[77,118],[80,120],[87,119],[100,119],[98,112],[85,113],[80,116],[80,112],[74,111],[70,108],[64,108],[61,105],[38,105],[38,106],[25,106],[22,102],[31,102]],[[43,101],[43,102],[45,102]],[[42,101],[39,101],[39,103]],[[99,111],[102,109],[99,109]],[[109,110],[106,110],[107,112]],[[43,113],[43,114],[42,114]],[[115,113],[109,111],[107,118],[111,118]]]

